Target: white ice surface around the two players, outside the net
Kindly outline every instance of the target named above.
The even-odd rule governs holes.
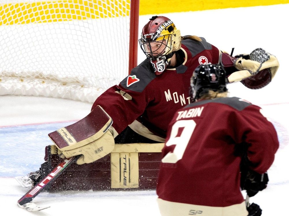
[[[289,48],[288,11],[289,4],[284,4],[163,14],[173,20],[181,35],[205,37],[229,53],[232,47],[235,48],[234,54],[250,53],[261,47],[277,56],[279,71],[268,86],[250,90],[240,83],[228,85],[231,96],[261,106],[278,132],[280,147],[268,170],[268,187],[250,199],[261,206],[264,216],[288,215],[289,99],[286,93],[288,76],[285,75]],[[150,17],[140,16],[140,26]],[[139,50],[138,56],[140,63],[144,54]],[[42,192],[33,202],[51,208],[31,213],[16,205],[27,190],[20,187],[13,177],[37,170],[44,162],[44,147],[51,144],[47,134],[85,117],[91,105],[57,98],[0,96],[1,215],[160,215],[154,190]]]

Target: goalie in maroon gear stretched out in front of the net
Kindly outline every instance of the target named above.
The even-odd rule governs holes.
[[[251,89],[268,85],[279,67],[261,48],[232,56],[203,37],[182,37],[164,16],[149,20],[139,43],[147,58],[96,98],[88,116],[49,134],[45,162],[17,178],[23,186],[39,182],[63,158],[82,155],[50,190],[155,189],[168,124],[191,102],[190,78],[199,65],[220,64],[228,83]]]

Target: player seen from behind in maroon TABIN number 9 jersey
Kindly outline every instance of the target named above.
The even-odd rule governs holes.
[[[254,196],[266,187],[264,173],[279,146],[275,128],[260,107],[227,97],[220,65],[197,67],[190,93],[195,102],[174,114],[162,150],[157,184],[161,215],[247,216],[241,161],[250,173],[242,189]],[[261,215],[258,207],[248,208],[249,215]]]

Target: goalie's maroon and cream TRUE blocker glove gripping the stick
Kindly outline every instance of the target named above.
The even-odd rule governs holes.
[[[114,149],[114,138],[108,130],[111,125],[112,118],[97,106],[85,118],[48,136],[58,148],[61,158],[82,155],[76,163],[88,164]]]

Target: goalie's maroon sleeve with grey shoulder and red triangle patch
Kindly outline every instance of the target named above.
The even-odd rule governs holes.
[[[112,118],[114,129],[120,133],[136,118],[138,118],[153,98],[149,88],[150,83],[156,78],[151,72],[150,62],[146,59],[132,69],[119,85],[112,86],[101,94],[92,109],[100,105]]]

